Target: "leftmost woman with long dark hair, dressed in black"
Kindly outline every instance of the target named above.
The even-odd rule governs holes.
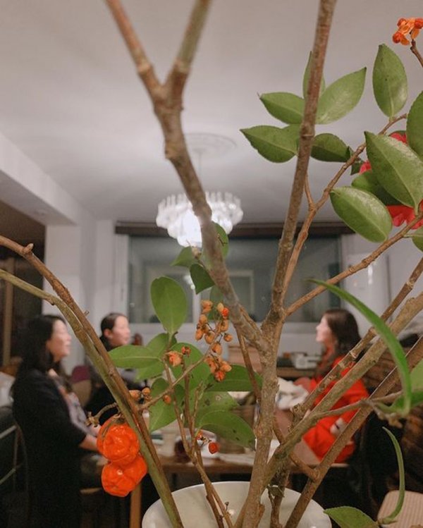
[[[75,425],[51,369],[61,371],[71,335],[55,315],[32,319],[25,355],[13,384],[13,415],[23,431],[33,528],[80,528],[81,448],[96,451],[96,438]]]

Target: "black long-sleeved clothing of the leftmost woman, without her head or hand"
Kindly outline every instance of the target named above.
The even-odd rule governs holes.
[[[80,527],[80,449],[85,433],[69,417],[54,381],[38,370],[18,374],[13,415],[23,431],[30,477],[31,526]]]

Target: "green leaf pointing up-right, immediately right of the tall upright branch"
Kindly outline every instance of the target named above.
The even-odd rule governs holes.
[[[364,90],[366,68],[344,75],[321,94],[316,123],[327,125],[346,116],[358,104]]]

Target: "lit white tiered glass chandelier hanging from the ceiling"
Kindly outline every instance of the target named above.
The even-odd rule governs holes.
[[[233,226],[243,218],[240,199],[230,192],[206,192],[206,199],[212,209],[212,221],[231,233]],[[167,229],[178,244],[201,247],[200,223],[185,195],[171,195],[161,200],[156,223]]]

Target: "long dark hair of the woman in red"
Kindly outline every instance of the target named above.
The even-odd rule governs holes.
[[[316,373],[318,376],[326,376],[331,370],[333,361],[336,357],[347,354],[360,341],[357,321],[351,312],[343,308],[331,308],[324,312],[323,317],[336,339],[335,350],[333,354],[321,361],[317,365]]]

